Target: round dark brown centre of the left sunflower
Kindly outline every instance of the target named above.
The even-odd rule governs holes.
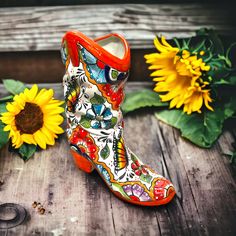
[[[26,102],[23,110],[15,116],[16,128],[25,134],[33,134],[43,127],[43,112],[34,103]]]

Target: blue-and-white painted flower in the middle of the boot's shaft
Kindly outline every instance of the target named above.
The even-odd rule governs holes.
[[[86,117],[91,120],[94,129],[109,129],[112,126],[112,113],[104,104],[93,104],[87,110]]]

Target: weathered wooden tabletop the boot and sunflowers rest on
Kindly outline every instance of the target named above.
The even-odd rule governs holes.
[[[56,97],[62,98],[60,84]],[[127,90],[148,87],[129,83]],[[0,86],[0,96],[3,95]],[[54,147],[24,163],[0,151],[0,204],[14,202],[28,221],[8,235],[235,235],[235,179],[228,159],[232,134],[225,131],[211,149],[200,149],[146,110],[125,117],[128,145],[141,159],[171,179],[177,196],[167,206],[138,207],[113,196],[97,173],[76,169],[65,135]],[[40,201],[39,215],[31,206]],[[0,235],[4,235],[0,231]]]

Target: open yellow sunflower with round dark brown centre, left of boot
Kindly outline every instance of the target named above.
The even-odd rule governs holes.
[[[27,143],[46,149],[46,145],[54,145],[57,134],[64,132],[59,126],[63,122],[61,104],[62,101],[53,99],[52,89],[38,91],[36,84],[15,95],[6,105],[7,112],[0,117],[13,147]]]

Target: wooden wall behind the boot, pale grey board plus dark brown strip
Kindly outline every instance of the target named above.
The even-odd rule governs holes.
[[[113,4],[0,9],[0,78],[59,82],[63,34],[77,29],[95,38],[123,34],[132,53],[131,81],[149,76],[143,55],[155,34],[167,38],[194,35],[201,27],[235,36],[234,9],[227,4]]]

